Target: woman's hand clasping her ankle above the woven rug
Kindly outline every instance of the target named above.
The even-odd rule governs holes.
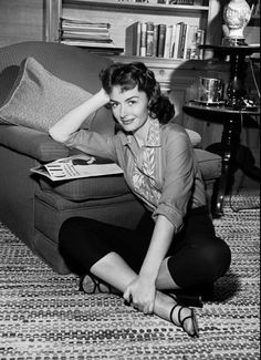
[[[155,281],[138,275],[126,288],[123,297],[144,313],[153,313],[156,296]]]

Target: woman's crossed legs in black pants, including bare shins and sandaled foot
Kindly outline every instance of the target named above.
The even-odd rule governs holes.
[[[197,216],[196,216],[197,215]],[[73,218],[60,232],[61,253],[80,274],[91,272],[122,292],[137,276],[150,241],[147,234],[132,232],[100,222]],[[180,306],[161,289],[200,287],[212,284],[229,267],[230,250],[215,236],[206,214],[189,216],[184,230],[174,238],[169,257],[164,260],[156,282],[154,312],[178,325]],[[195,335],[191,310],[182,308],[185,331]]]

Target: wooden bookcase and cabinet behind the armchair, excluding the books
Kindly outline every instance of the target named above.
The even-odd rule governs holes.
[[[45,41],[61,41],[60,25],[62,18],[79,19],[90,22],[109,23],[109,34],[115,48],[123,49],[121,54],[107,54],[114,61],[143,61],[152,69],[168,93],[176,107],[176,122],[199,131],[188,116],[182,113],[182,104],[188,100],[188,89],[199,75],[211,74],[219,66],[208,63],[212,53],[205,53],[203,60],[166,59],[166,56],[136,56],[133,54],[132,38],[127,29],[135,22],[154,22],[174,25],[180,21],[205,30],[205,43],[220,44],[222,8],[220,0],[194,0],[194,4],[166,4],[163,1],[134,2],[127,0],[45,0]],[[87,50],[87,47],[86,47]],[[92,51],[92,50],[91,50]],[[215,68],[215,69],[213,69]]]

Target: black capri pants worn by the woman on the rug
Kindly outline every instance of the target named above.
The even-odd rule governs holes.
[[[154,230],[146,213],[134,230],[84,217],[65,220],[60,230],[60,251],[73,272],[84,275],[108,253],[115,251],[138,272]],[[215,234],[207,207],[190,210],[166,255],[174,281],[181,288],[213,284],[228,270],[231,253]]]

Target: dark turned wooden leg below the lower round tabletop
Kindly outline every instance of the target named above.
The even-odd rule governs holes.
[[[240,119],[230,119],[223,124],[221,138],[222,172],[216,188],[216,200],[212,204],[213,217],[223,215],[223,197],[231,187],[231,178],[237,169],[237,148],[240,144]],[[211,145],[208,147],[211,151]]]

